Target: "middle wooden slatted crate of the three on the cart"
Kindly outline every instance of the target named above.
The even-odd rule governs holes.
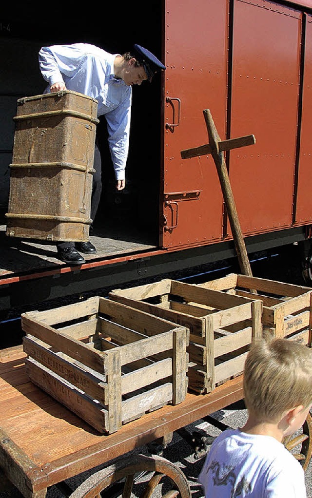
[[[188,387],[196,392],[210,392],[242,373],[253,338],[262,337],[260,300],[170,279],[114,290],[109,297],[190,330]]]

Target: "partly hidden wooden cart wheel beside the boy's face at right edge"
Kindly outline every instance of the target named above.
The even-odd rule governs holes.
[[[287,436],[283,443],[285,448],[291,451],[294,457],[300,461],[306,472],[308,465],[310,464],[312,455],[312,417],[310,413],[306,418],[304,425],[302,426],[301,434],[295,434],[292,436]]]

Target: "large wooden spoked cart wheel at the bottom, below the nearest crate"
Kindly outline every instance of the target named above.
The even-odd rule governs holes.
[[[138,483],[138,474],[148,475],[148,482]],[[169,478],[169,479],[166,479]],[[138,498],[153,497],[157,485],[163,479],[163,498],[191,498],[191,492],[183,472],[164,458],[145,455],[125,457],[106,469],[96,472],[84,481],[69,498],[130,498],[134,487]],[[165,482],[164,482],[165,481]],[[167,488],[170,483],[170,490]],[[109,488],[109,489],[108,489]],[[173,489],[172,489],[173,488]],[[103,493],[102,493],[103,492]],[[158,492],[158,489],[157,489]],[[159,495],[158,495],[159,496]]]

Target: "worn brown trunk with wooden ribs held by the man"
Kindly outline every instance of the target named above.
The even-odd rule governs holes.
[[[17,104],[6,235],[87,241],[97,101],[64,91]]]

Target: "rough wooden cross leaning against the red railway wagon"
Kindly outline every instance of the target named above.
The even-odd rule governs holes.
[[[231,138],[229,140],[221,140],[209,109],[205,109],[203,111],[203,114],[207,126],[209,143],[206,145],[201,145],[200,147],[182,150],[181,158],[189,159],[190,157],[198,157],[201,155],[212,155],[221,184],[240,269],[245,275],[252,276],[250,262],[248,259],[241,226],[237,215],[234,196],[223,152],[238,147],[245,147],[246,145],[253,145],[256,143],[256,138],[254,135],[247,135],[241,136],[239,138]]]

